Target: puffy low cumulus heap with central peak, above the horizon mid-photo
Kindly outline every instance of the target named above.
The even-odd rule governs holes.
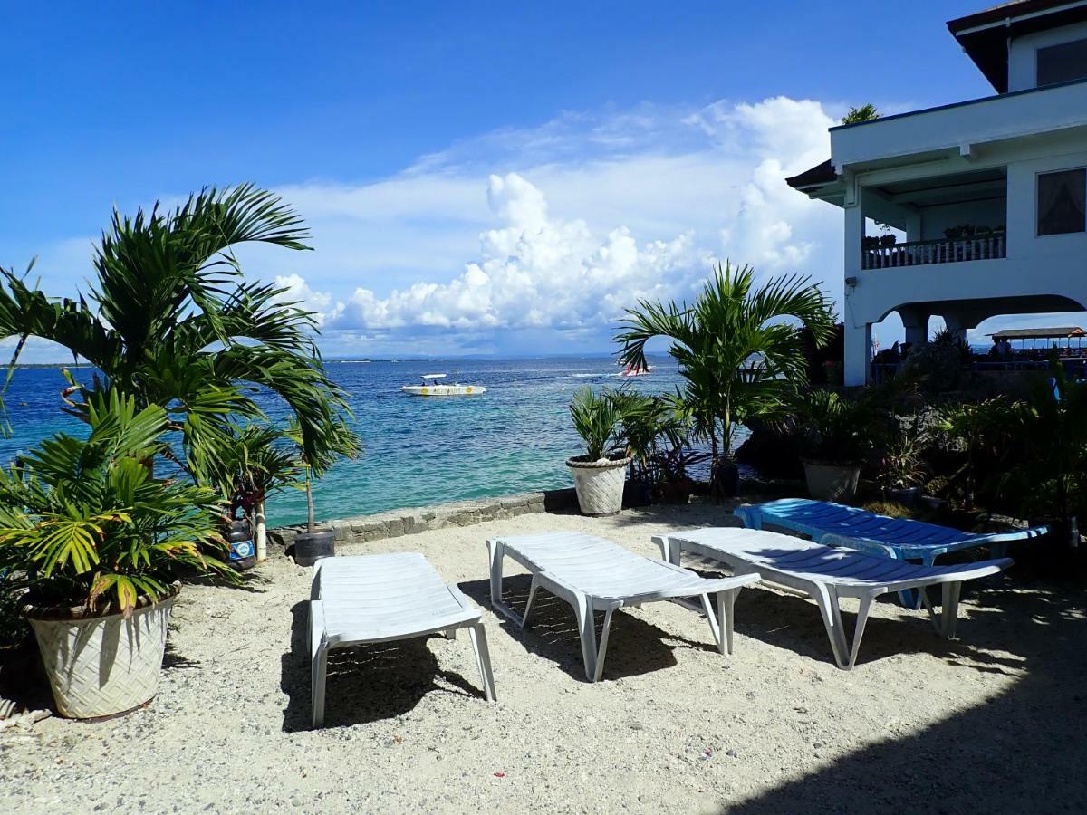
[[[697,265],[689,235],[639,246],[626,227],[617,227],[598,239],[584,221],[552,216],[540,190],[516,173],[490,176],[487,201],[502,225],[479,236],[479,259],[460,275],[384,298],[357,288],[328,316],[328,327],[561,329],[611,323],[638,298],[671,293],[677,269]]]

